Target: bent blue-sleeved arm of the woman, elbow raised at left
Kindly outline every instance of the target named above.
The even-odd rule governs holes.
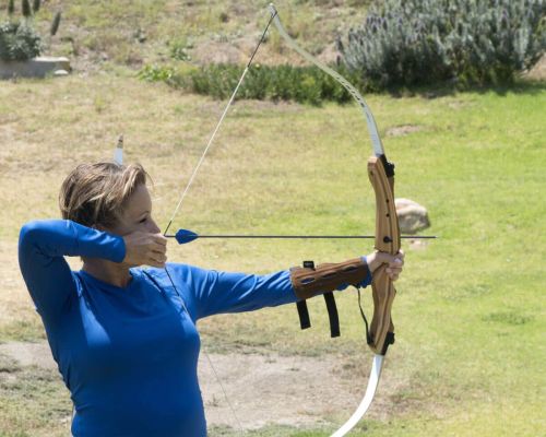
[[[121,237],[68,220],[29,222],[21,228],[19,237],[23,279],[39,315],[50,322],[58,319],[69,297],[75,295],[74,279],[64,256],[121,262],[124,253]]]

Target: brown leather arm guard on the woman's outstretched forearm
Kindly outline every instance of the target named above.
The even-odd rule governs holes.
[[[345,262],[319,264],[316,268],[290,269],[292,286],[299,299],[308,299],[337,290],[342,285],[358,286],[369,274],[361,258]]]

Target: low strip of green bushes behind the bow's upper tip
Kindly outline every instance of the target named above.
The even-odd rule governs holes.
[[[209,64],[199,68],[176,70],[173,67],[145,67],[139,73],[142,80],[166,82],[170,86],[226,99],[237,86],[242,71],[241,66]],[[348,75],[348,71],[341,71]],[[358,78],[348,76],[349,81]],[[311,105],[323,102],[345,103],[351,95],[331,76],[316,67],[260,66],[249,69],[236,98],[294,101]]]

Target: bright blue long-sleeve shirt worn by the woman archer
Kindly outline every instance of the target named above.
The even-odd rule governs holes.
[[[70,270],[64,256],[123,260],[123,239],[71,221],[26,224],[19,260],[75,406],[75,437],[205,436],[195,323],[296,302],[289,271],[186,264],[130,270],[126,287]],[[370,282],[367,277],[363,285]]]

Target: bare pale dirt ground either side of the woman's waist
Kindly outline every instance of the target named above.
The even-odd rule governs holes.
[[[16,359],[21,366],[57,369],[47,342],[3,343],[0,344],[0,354]],[[239,428],[237,421],[245,429],[268,424],[341,424],[356,409],[367,383],[367,380],[355,381],[340,371],[341,362],[335,356],[310,358],[275,354],[211,354],[209,358],[201,354],[199,363],[209,426]],[[369,365],[363,364],[366,371]],[[392,393],[395,385],[389,377],[381,381],[371,411],[376,418],[384,414],[385,394]],[[226,401],[224,390],[236,416]]]

